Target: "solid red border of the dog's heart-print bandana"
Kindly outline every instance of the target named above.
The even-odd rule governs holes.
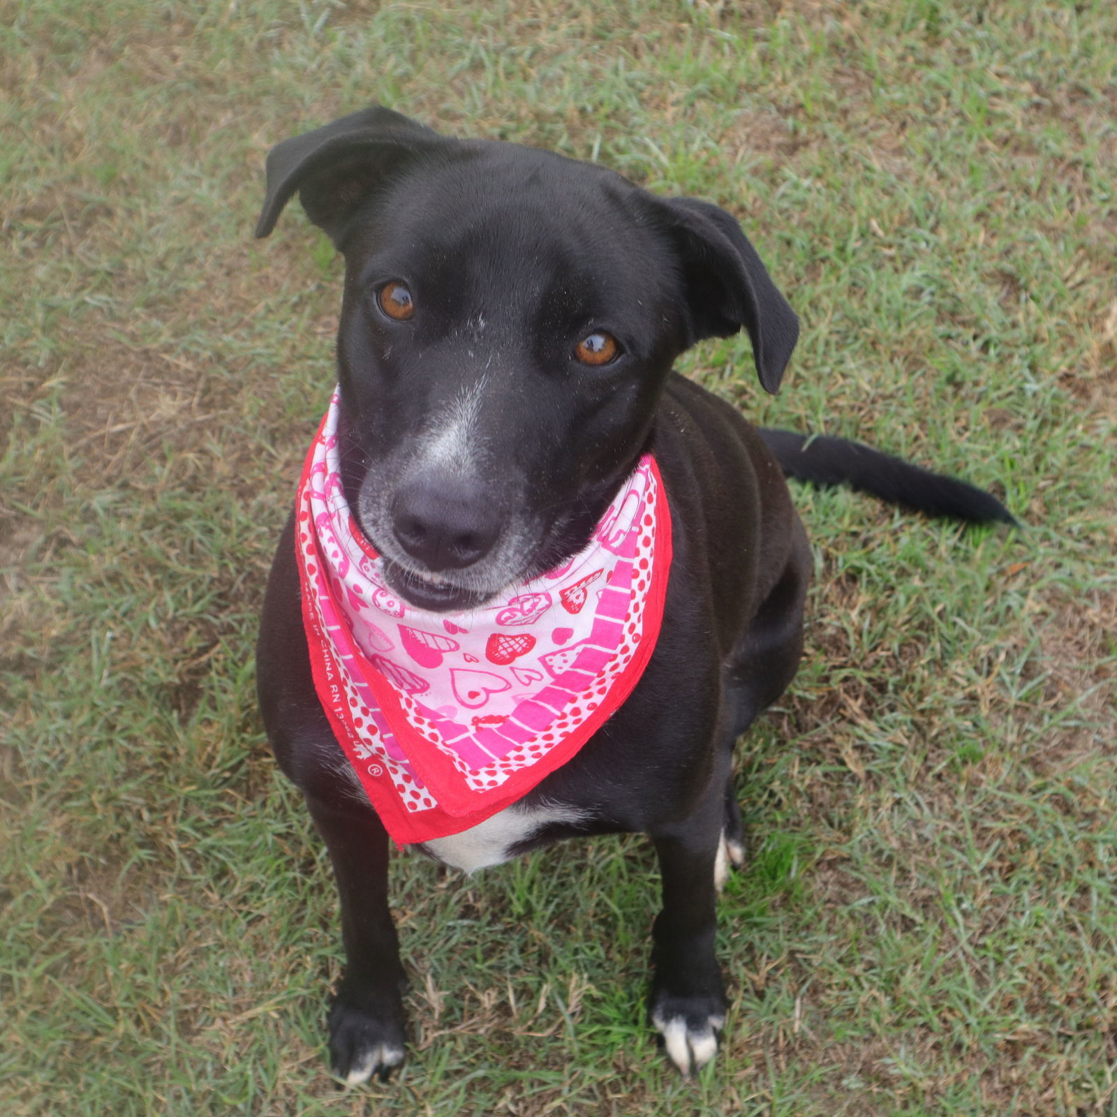
[[[318,432],[311,443],[311,450],[307,454],[303,476],[299,480],[299,493],[303,491],[309,476],[314,449],[324,426],[325,418],[323,418],[318,427]],[[655,458],[651,459],[651,470],[657,483],[655,513],[657,527],[656,552],[652,555],[651,582],[648,588],[648,598],[645,602],[643,632],[632,658],[610,688],[607,700],[593,710],[573,733],[563,742],[556,744],[545,757],[528,767],[513,773],[499,787],[488,793],[478,793],[477,798],[484,801],[484,805],[462,813],[451,813],[441,804],[412,813],[403,806],[393,789],[383,785],[380,780],[366,773],[365,767],[367,765],[356,753],[360,737],[347,719],[349,706],[343,700],[337,700],[342,691],[338,685],[332,681],[338,677],[336,659],[331,650],[328,639],[318,626],[317,618],[314,615],[313,607],[309,602],[309,594],[305,590],[308,575],[304,565],[305,556],[303,547],[299,546],[298,508],[296,507],[295,554],[298,561],[302,589],[303,627],[306,630],[314,687],[323,712],[334,732],[334,736],[337,738],[353,771],[361,781],[361,785],[364,787],[365,794],[367,794],[376,814],[384,824],[384,829],[388,830],[392,840],[398,846],[431,841],[436,838],[447,838],[451,834],[460,833],[523,799],[524,795],[546,779],[546,776],[570,761],[590,737],[601,728],[605,720],[623,705],[624,700],[632,693],[633,687],[643,675],[643,669],[651,658],[659,638],[671,565],[671,514],[667,500],[667,488],[663,485],[663,479],[659,472],[659,465]],[[315,649],[317,649],[317,655],[315,653]],[[399,699],[386,680],[384,680],[383,686],[376,686],[375,679],[370,679],[369,682],[373,687],[373,693],[382,706],[394,707],[395,712],[400,710]],[[388,700],[385,701],[385,699]],[[397,724],[401,722],[402,718]],[[416,737],[417,742],[422,743],[422,738],[418,737],[418,734]],[[429,785],[421,761],[417,760],[410,751],[408,752],[408,758],[420,779],[423,780],[423,783],[428,783]],[[389,780],[386,773],[384,779]]]

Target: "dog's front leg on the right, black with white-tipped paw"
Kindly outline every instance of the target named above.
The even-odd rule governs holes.
[[[682,824],[651,836],[663,888],[651,932],[651,1021],[684,1075],[714,1058],[725,1023],[725,985],[714,956],[724,787],[724,776],[712,781],[709,793]]]

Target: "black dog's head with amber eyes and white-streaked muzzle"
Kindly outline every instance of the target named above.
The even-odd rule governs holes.
[[[398,593],[480,604],[585,545],[675,359],[744,327],[779,386],[799,324],[737,222],[599,166],[385,108],[268,154],[345,258],[343,475]]]

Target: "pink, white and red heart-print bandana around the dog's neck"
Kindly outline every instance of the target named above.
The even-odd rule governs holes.
[[[671,524],[645,455],[583,551],[459,613],[401,601],[350,512],[336,392],[296,498],[314,684],[398,844],[459,833],[565,764],[624,701],[663,613]]]

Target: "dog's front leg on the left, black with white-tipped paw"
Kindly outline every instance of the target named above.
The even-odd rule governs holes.
[[[330,1010],[330,1065],[353,1086],[403,1061],[407,978],[388,907],[388,834],[371,808],[306,801],[342,907],[345,970]]]

